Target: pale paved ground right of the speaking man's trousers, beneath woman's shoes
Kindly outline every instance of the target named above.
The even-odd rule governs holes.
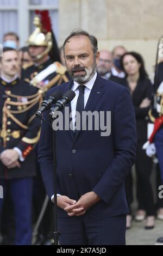
[[[158,237],[163,237],[163,221],[156,220],[155,228],[144,229],[145,222],[132,222],[126,232],[127,245],[154,245]]]

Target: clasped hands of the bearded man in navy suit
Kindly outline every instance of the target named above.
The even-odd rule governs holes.
[[[72,216],[82,216],[85,212],[101,200],[97,194],[93,191],[84,194],[78,202],[76,200],[70,199],[66,196],[59,196],[57,198],[57,205],[64,209],[67,214]]]

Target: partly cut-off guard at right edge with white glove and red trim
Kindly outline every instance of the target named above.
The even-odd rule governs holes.
[[[158,43],[155,67],[153,103],[149,110],[148,141],[143,145],[149,157],[156,157],[159,161],[161,182],[163,184],[163,38]]]

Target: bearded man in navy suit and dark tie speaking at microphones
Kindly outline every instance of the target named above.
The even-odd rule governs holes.
[[[73,131],[57,130],[58,229],[60,245],[125,245],[128,205],[124,179],[135,161],[135,113],[128,89],[97,75],[97,39],[74,31],[64,43],[67,70],[72,78],[56,89],[72,89],[76,96],[67,106]],[[106,130],[77,129],[78,111],[111,113]],[[48,113],[44,118],[48,120]],[[66,111],[62,111],[66,115]],[[70,121],[69,120],[69,121]],[[87,118],[86,127],[90,117]],[[84,125],[82,123],[82,125]],[[82,126],[83,127],[83,126]],[[99,126],[101,127],[101,126]],[[53,200],[53,129],[42,124],[39,162],[49,198]]]

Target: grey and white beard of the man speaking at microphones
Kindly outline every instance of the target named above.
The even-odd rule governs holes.
[[[92,65],[92,67],[90,69],[86,69],[86,68],[84,68],[82,66],[76,66],[71,71],[68,70],[68,74],[70,75],[70,77],[72,78],[73,81],[75,81],[75,82],[77,82],[79,84],[84,84],[84,83],[86,83],[86,82],[91,80],[91,78],[96,73],[96,69],[97,69],[97,64],[96,64],[96,59],[94,59],[93,65]],[[86,74],[85,75],[75,76],[74,75],[74,71],[85,71]]]

